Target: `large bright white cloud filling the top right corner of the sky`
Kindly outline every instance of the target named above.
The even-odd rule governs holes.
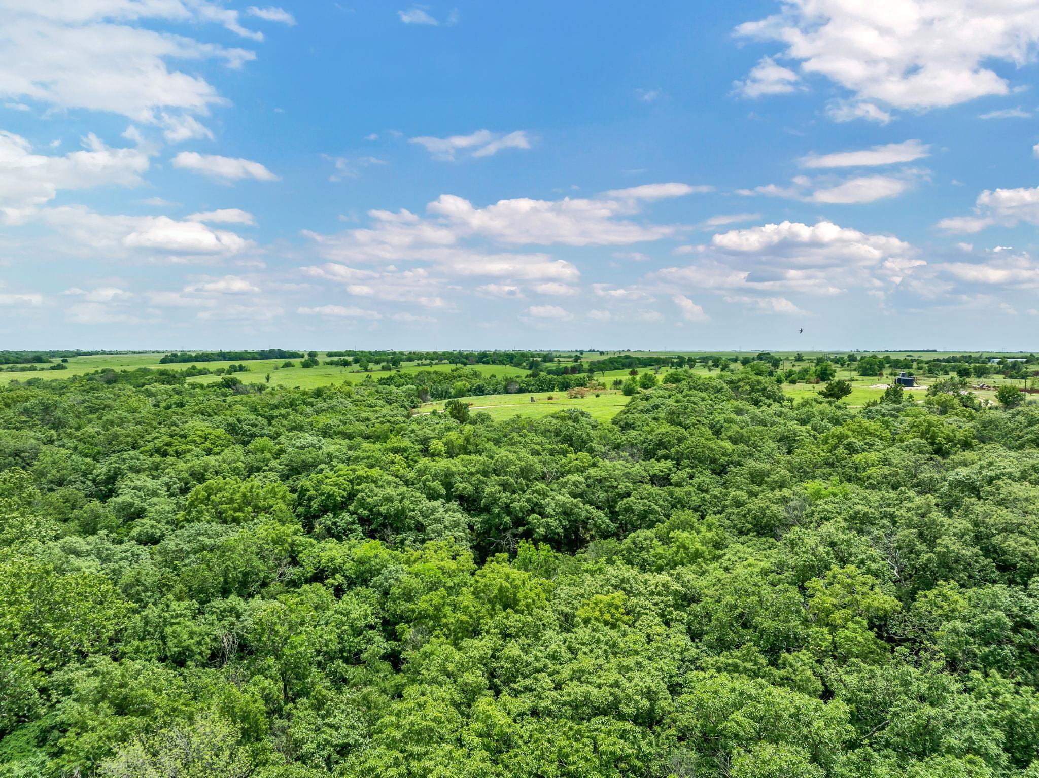
[[[863,105],[903,109],[955,105],[1010,85],[989,61],[1023,64],[1039,41],[1034,0],[790,0],[775,16],[737,28],[743,36],[776,41],[803,74],[842,85]],[[743,89],[790,91],[787,75],[769,76],[758,63]],[[758,69],[764,76],[755,76]],[[794,75],[794,74],[791,74]],[[874,106],[875,107],[875,106]]]

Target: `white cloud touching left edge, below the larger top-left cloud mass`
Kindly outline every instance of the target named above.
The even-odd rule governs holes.
[[[0,214],[7,221],[28,218],[59,190],[98,186],[137,186],[149,168],[138,149],[109,149],[96,135],[83,151],[64,156],[33,154],[25,138],[0,131]]]

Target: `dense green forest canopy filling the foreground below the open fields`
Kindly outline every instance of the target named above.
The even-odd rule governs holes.
[[[0,776],[1035,778],[1039,406],[753,361],[0,390]]]

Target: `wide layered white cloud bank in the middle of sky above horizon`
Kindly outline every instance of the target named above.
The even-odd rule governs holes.
[[[447,306],[445,300],[453,292],[478,278],[489,281],[475,287],[476,294],[485,297],[520,298],[525,292],[575,296],[581,273],[570,262],[540,251],[495,250],[494,244],[598,246],[657,240],[681,227],[635,220],[642,204],[695,190],[686,184],[651,184],[611,190],[597,198],[516,198],[482,208],[445,194],[427,206],[426,216],[403,209],[375,210],[368,214],[369,226],[337,235],[304,232],[326,264],[303,272],[340,283],[351,295],[430,307]],[[408,263],[420,267],[406,268]],[[382,269],[357,267],[362,264]],[[598,294],[614,300],[636,295],[609,292]],[[640,292],[623,298],[649,296]]]

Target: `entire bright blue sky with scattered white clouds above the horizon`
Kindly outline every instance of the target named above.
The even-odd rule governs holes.
[[[1039,0],[850,5],[0,0],[3,347],[1035,349]]]

